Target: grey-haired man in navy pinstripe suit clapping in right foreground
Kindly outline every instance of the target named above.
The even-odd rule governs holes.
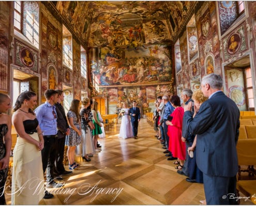
[[[185,122],[197,134],[197,165],[203,172],[207,204],[237,204],[236,143],[239,135],[239,109],[222,91],[222,78],[209,74],[202,79],[202,92],[208,100],[192,118],[191,104],[185,106]]]

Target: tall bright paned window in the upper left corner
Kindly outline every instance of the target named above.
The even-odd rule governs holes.
[[[26,41],[39,48],[39,6],[37,2],[14,2],[14,28]]]

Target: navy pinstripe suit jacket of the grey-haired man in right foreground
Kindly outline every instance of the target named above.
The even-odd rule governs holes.
[[[192,118],[184,114],[190,133],[197,134],[197,165],[212,176],[234,177],[238,170],[236,143],[239,135],[239,109],[223,92],[203,102]]]

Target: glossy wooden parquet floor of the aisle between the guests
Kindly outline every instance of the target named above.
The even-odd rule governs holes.
[[[205,199],[203,184],[189,183],[177,174],[146,119],[139,123],[137,140],[118,138],[121,119],[118,122],[99,139],[102,151],[91,162],[76,157],[79,169],[63,176],[64,187],[48,188],[54,198],[40,204],[199,205]],[[6,198],[10,204],[10,196]]]

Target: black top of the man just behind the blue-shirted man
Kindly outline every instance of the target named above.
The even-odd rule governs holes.
[[[64,108],[58,102],[55,104],[57,112],[57,129],[58,129],[58,139],[64,138],[66,136],[68,126],[67,117]]]

